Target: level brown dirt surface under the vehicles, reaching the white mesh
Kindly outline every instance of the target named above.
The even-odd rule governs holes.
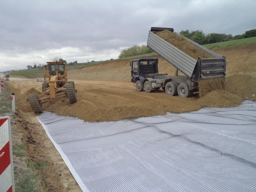
[[[202,106],[230,107],[239,105],[244,98],[255,100],[255,89],[251,86],[256,84],[255,80],[247,75],[231,76],[226,81],[228,90],[215,90],[203,97],[190,98],[169,96],[161,89],[154,93],[137,92],[132,83],[126,82],[74,80],[78,97],[76,103],[70,104],[67,98],[61,98],[44,103],[43,107],[46,111],[76,116],[84,121],[181,113],[198,110]],[[18,108],[26,113],[32,112],[26,99],[31,93],[41,96],[41,83],[35,79],[19,79],[9,84],[18,95]]]

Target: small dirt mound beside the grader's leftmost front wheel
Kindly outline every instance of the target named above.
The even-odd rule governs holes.
[[[29,97],[29,95],[31,94],[36,94],[38,97],[42,96],[42,93],[37,91],[34,88],[29,89],[28,91],[26,91],[24,94],[21,94],[17,97],[17,107],[18,109],[22,110],[23,112],[33,112],[29,102],[27,101],[27,98]]]

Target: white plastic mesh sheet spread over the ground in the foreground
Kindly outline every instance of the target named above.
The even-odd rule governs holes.
[[[256,102],[115,122],[37,118],[84,191],[256,191]]]

